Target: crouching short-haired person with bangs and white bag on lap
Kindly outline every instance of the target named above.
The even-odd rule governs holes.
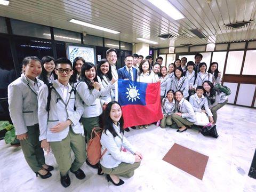
[[[214,123],[213,115],[208,105],[208,100],[206,97],[204,97],[203,86],[196,87],[196,93],[191,95],[191,97],[189,98],[189,102],[193,106],[195,112],[206,113],[209,117],[210,123]]]

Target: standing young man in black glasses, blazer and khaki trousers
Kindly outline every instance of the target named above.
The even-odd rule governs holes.
[[[73,74],[71,61],[60,58],[55,63],[58,79],[53,82],[51,89],[43,85],[38,94],[39,140],[42,141],[41,146],[47,153],[51,147],[59,165],[61,185],[68,187],[69,170],[77,179],[85,178],[84,172],[80,169],[86,158],[84,131],[79,123],[83,105],[79,95],[76,94],[75,98],[74,89],[68,84]],[[49,91],[51,98],[48,100]],[[50,102],[49,112],[46,110],[47,101]],[[73,162],[71,150],[75,154]]]

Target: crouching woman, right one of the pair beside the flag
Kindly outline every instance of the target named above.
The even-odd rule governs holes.
[[[178,113],[172,114],[172,119],[180,127],[177,132],[187,131],[186,126],[191,126],[196,122],[196,114],[188,100],[183,98],[182,91],[175,92],[175,100],[178,103]]]

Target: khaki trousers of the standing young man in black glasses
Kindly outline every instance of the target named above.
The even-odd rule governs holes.
[[[71,128],[69,128],[68,135],[65,139],[50,142],[50,146],[62,176],[65,176],[70,169],[77,171],[85,162],[85,139],[82,134],[75,134]],[[73,163],[71,159],[71,149],[75,154]]]

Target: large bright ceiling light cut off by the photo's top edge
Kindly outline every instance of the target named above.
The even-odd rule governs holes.
[[[185,18],[169,1],[167,0],[148,0],[150,3],[158,7],[159,10],[165,12],[172,19],[178,20]]]

